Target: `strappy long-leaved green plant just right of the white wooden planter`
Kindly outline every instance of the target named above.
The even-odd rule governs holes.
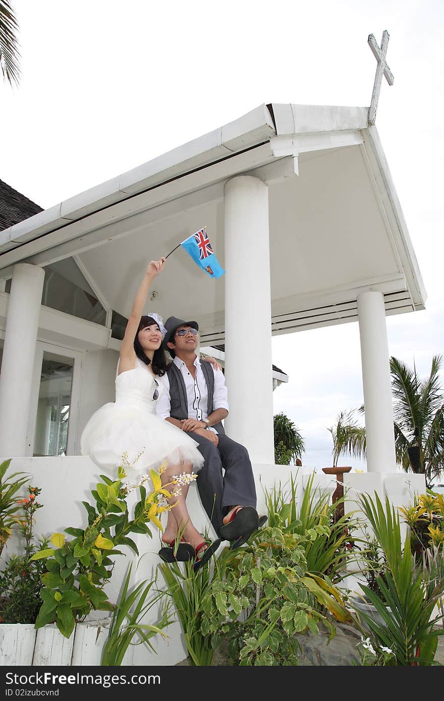
[[[130,645],[145,644],[155,652],[151,639],[156,634],[166,637],[163,629],[173,620],[173,617],[168,613],[169,602],[167,601],[161,609],[161,616],[156,625],[141,622],[153,606],[159,604],[161,599],[164,598],[165,592],[156,591],[156,594],[147,601],[148,594],[154,587],[155,580],[148,584],[147,580],[144,580],[136,587],[133,587],[133,589],[129,589],[132,567],[133,563],[130,563],[119,601],[114,606],[112,620],[109,624],[108,638],[102,650],[100,661],[102,667],[120,666]],[[138,638],[138,642],[133,642],[135,637],[136,639]]]

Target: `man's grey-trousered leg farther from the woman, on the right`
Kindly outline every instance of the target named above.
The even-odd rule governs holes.
[[[256,508],[257,497],[253,468],[245,446],[228,436],[220,435],[217,449],[225,470],[222,517],[236,505]]]

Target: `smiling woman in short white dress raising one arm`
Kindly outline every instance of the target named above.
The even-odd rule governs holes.
[[[156,416],[156,401],[165,374],[166,357],[162,343],[163,324],[158,315],[142,316],[152,280],[163,270],[165,258],[150,261],[133,302],[121,343],[116,374],[116,401],[109,402],[91,416],[81,435],[81,454],[89,455],[100,468],[115,471],[124,461],[140,475],[167,463],[162,484],[173,475],[191,476],[203,465],[198,444],[184,431]],[[156,318],[154,318],[156,317]],[[164,332],[164,329],[163,329]],[[211,358],[211,361],[216,361]],[[208,562],[220,541],[208,543],[191,523],[186,505],[189,481],[185,477],[180,494],[168,501],[173,509],[159,555],[166,562],[196,557],[195,569]],[[173,526],[174,524],[174,526]],[[179,545],[175,543],[177,534]]]

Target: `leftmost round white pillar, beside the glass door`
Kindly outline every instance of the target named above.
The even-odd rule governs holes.
[[[45,271],[27,263],[14,266],[0,374],[0,451],[26,455],[26,433]]]

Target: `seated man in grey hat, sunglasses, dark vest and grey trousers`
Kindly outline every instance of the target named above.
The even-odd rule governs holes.
[[[222,370],[201,363],[196,355],[198,323],[170,316],[165,327],[163,346],[173,363],[161,377],[163,393],[156,411],[199,443],[205,458],[197,478],[203,508],[217,535],[231,540],[234,549],[267,520],[257,515],[248,451],[224,432],[222,421],[229,408],[227,387]]]

